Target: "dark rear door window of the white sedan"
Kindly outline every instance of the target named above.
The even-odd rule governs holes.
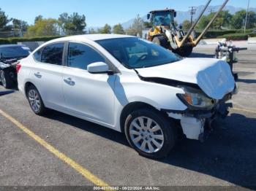
[[[42,63],[62,64],[64,43],[50,44],[42,50]]]

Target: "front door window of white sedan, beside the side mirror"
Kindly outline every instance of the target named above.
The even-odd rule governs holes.
[[[69,67],[87,70],[87,66],[95,62],[105,62],[105,58],[85,44],[69,43],[67,58]]]

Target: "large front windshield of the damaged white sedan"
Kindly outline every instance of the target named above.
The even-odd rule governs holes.
[[[138,38],[118,38],[97,41],[124,66],[140,69],[180,61],[170,50]]]

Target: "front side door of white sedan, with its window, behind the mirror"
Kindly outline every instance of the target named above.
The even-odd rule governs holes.
[[[95,62],[108,63],[89,44],[69,42],[62,81],[66,106],[76,116],[113,125],[116,74],[90,74],[87,66]]]

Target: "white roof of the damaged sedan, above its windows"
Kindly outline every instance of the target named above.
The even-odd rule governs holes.
[[[89,39],[91,41],[104,40],[104,39],[118,39],[118,38],[135,38],[136,36],[129,36],[124,34],[83,34],[75,36],[66,36],[59,39],[51,40],[50,42],[59,42],[59,41],[83,41]]]

